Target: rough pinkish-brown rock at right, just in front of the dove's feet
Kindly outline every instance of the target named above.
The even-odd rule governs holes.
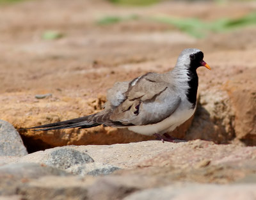
[[[154,158],[144,160],[140,167],[163,167],[170,165],[175,169],[220,165],[239,160],[255,160],[256,147],[235,144],[216,145],[209,141],[189,141],[175,150],[166,151]]]

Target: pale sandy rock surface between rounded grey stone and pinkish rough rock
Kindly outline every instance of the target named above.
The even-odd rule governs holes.
[[[132,142],[129,144],[72,146],[75,150],[85,151],[95,162],[109,164],[121,169],[132,168],[142,160],[156,157],[164,151],[172,151],[184,142],[161,141]]]

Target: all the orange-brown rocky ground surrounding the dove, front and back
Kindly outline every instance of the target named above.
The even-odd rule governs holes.
[[[147,20],[255,10],[255,2],[0,6],[0,199],[256,199],[256,27],[198,39]],[[108,16],[136,17],[100,25]],[[47,40],[49,30],[60,38]],[[114,82],[171,70],[186,47],[203,50],[212,68],[198,69],[195,116],[172,133],[188,142],[104,127],[20,130],[100,111]]]

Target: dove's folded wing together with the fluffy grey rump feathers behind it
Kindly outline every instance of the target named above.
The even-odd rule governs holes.
[[[163,75],[147,73],[131,82],[117,82],[108,91],[104,111],[92,121],[110,126],[154,124],[168,118],[179,104],[180,97]]]

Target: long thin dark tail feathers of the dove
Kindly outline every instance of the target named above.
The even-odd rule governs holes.
[[[89,118],[91,118],[94,114],[84,116],[81,118],[76,119],[69,119],[66,121],[60,121],[56,123],[49,123],[47,125],[41,125],[37,127],[31,127],[26,129],[33,129],[33,130],[57,130],[57,129],[64,129],[64,128],[91,128],[91,127],[97,127],[100,125],[100,123],[95,123],[93,121],[88,121]]]

